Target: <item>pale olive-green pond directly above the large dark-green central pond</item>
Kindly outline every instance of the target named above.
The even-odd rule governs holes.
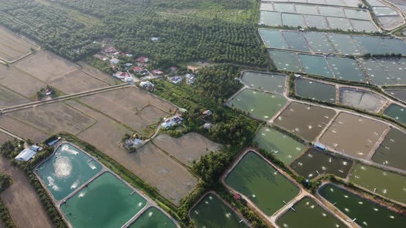
[[[254,141],[260,148],[271,152],[287,165],[294,161],[306,148],[305,145],[292,139],[292,137],[265,126],[259,129]]]

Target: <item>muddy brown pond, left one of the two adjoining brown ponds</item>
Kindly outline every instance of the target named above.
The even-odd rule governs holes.
[[[275,124],[308,141],[313,141],[335,114],[332,109],[292,102],[275,119]]]

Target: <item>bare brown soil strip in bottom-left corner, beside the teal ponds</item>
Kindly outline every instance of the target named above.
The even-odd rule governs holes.
[[[15,225],[24,228],[53,227],[27,176],[3,157],[0,157],[0,171],[8,173],[13,179],[12,185],[0,197]]]

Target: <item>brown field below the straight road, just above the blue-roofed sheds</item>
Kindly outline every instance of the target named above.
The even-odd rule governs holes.
[[[23,109],[7,115],[50,134],[66,131],[76,135],[94,124],[94,119],[62,103]]]

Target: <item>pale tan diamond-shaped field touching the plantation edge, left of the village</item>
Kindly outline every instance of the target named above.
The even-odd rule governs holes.
[[[74,62],[47,51],[36,52],[32,56],[17,62],[14,66],[43,82],[51,82],[55,78],[80,68]]]

